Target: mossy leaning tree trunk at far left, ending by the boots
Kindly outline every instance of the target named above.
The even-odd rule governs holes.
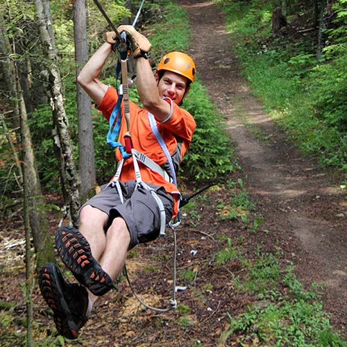
[[[10,57],[12,50],[3,16],[0,13],[0,50],[4,57]],[[13,52],[15,53],[15,52]],[[26,114],[26,105],[24,102],[23,92],[19,83],[19,76],[15,62],[8,59],[5,64],[5,74],[9,74],[6,78],[11,94],[11,103],[13,111],[20,118],[20,143],[22,144],[22,164],[26,167],[26,184],[28,185],[29,196],[29,214],[31,230],[33,232],[33,242],[35,253],[37,254],[37,266],[41,266],[44,262],[52,262],[54,260],[53,240],[49,235],[49,221],[46,217],[44,198],[37,173],[36,160],[33,152],[33,144],[31,141],[30,128]]]

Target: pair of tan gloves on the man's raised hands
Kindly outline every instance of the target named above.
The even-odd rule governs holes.
[[[152,47],[151,42],[149,42],[144,35],[136,31],[136,29],[131,25],[121,25],[117,28],[117,31],[119,33],[122,33],[123,31],[126,32],[126,39],[131,43],[131,50],[133,51],[134,58],[142,56],[143,53],[148,53]],[[105,33],[105,37],[106,41],[110,44],[115,44],[117,41],[117,35],[114,31]]]

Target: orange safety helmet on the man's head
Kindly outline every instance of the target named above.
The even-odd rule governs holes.
[[[176,72],[176,74],[188,78],[191,83],[194,81],[196,71],[192,58],[182,52],[171,52],[162,57],[156,72],[160,70]]]

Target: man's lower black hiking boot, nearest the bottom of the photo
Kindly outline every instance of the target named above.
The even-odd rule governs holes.
[[[76,339],[87,322],[88,293],[76,283],[65,282],[56,264],[47,263],[39,274],[44,300],[53,310],[53,320],[60,335]]]

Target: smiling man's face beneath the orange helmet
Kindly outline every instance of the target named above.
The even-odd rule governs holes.
[[[158,81],[158,76],[155,76]],[[161,97],[169,97],[174,103],[180,103],[185,96],[187,78],[172,71],[164,71],[158,83],[158,90]]]

